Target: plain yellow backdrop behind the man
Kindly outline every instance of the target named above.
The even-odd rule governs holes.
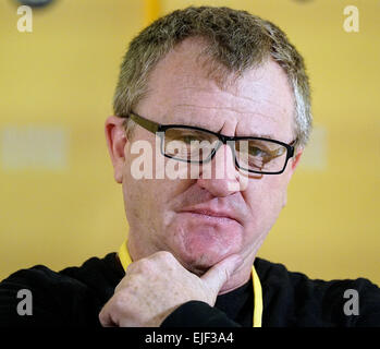
[[[259,256],[312,278],[380,284],[378,0],[57,0],[34,10],[33,33],[20,33],[17,5],[1,1],[0,135],[10,127],[49,125],[65,130],[69,143],[60,170],[0,167],[0,279],[35,264],[59,270],[118,250],[127,224],[103,122],[119,65],[150,19],[192,3],[274,22],[305,57],[311,79],[324,165],[296,171]],[[343,29],[348,4],[359,10],[358,33]]]

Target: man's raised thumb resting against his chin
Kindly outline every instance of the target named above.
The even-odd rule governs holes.
[[[212,299],[217,298],[222,286],[229,280],[232,274],[243,264],[243,258],[233,254],[213,265],[206,274],[201,276],[201,280],[212,292]],[[212,304],[213,305],[213,304]]]

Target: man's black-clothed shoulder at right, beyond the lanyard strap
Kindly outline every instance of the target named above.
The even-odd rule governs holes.
[[[256,258],[270,326],[380,326],[380,289],[366,278],[321,280]]]

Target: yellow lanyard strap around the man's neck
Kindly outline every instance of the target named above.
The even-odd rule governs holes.
[[[126,270],[126,267],[132,263],[130,252],[128,252],[127,246],[126,246],[126,240],[120,246],[119,258],[120,258],[120,262],[121,262],[124,270]],[[254,266],[252,267],[252,279],[253,279],[253,284],[254,284],[254,293],[255,293],[255,308],[254,308],[253,326],[254,327],[261,327],[262,291],[261,291],[260,279],[259,279]]]

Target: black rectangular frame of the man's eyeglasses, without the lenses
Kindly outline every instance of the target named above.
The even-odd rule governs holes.
[[[195,131],[201,131],[201,132],[206,132],[206,133],[209,133],[209,134],[212,134],[214,136],[217,136],[219,139],[219,141],[221,141],[221,144],[226,144],[231,147],[231,151],[232,151],[232,154],[233,154],[233,157],[234,157],[234,160],[235,160],[235,166],[236,168],[238,169],[242,169],[244,171],[248,171],[250,173],[259,173],[259,174],[281,174],[285,168],[286,168],[286,165],[287,165],[287,161],[291,157],[294,156],[294,144],[296,143],[297,140],[294,140],[293,142],[291,142],[290,144],[287,143],[284,143],[284,142],[281,142],[281,141],[277,141],[277,140],[271,140],[271,139],[265,139],[265,137],[254,137],[254,136],[241,136],[241,137],[236,137],[236,136],[228,136],[228,135],[224,135],[224,134],[221,134],[221,133],[216,133],[216,132],[212,132],[212,131],[209,131],[209,130],[206,130],[206,129],[201,129],[201,128],[197,128],[197,127],[191,127],[191,125],[186,125],[186,124],[160,124],[160,123],[157,123],[155,121],[151,121],[151,120],[148,120],[142,116],[139,116],[138,113],[134,112],[134,111],[131,111],[128,117],[134,121],[136,122],[138,125],[140,125],[143,129],[151,132],[151,133],[155,133],[157,134],[158,132],[162,132],[164,134],[164,132],[169,129],[188,129],[188,130],[195,130]],[[125,118],[125,117],[123,117]],[[183,161],[183,163],[188,163],[188,164],[207,164],[209,161],[212,160],[212,158],[214,157],[214,155],[217,154],[218,149],[220,148],[221,144],[219,144],[216,148],[213,148],[211,151],[211,154],[209,155],[209,157],[206,159],[206,160],[186,160],[186,159],[180,159],[180,158],[176,158],[175,156],[170,156],[168,154],[164,153],[164,149],[163,149],[163,141],[164,141],[164,136],[162,137],[161,134],[159,134],[160,139],[161,139],[161,154],[168,158],[173,158],[177,161]],[[286,148],[286,159],[285,159],[285,164],[283,166],[283,168],[280,170],[280,171],[277,171],[277,172],[266,172],[266,171],[255,171],[255,170],[249,170],[249,169],[246,169],[244,167],[241,167],[238,165],[238,161],[237,161],[237,158],[236,158],[236,154],[235,154],[235,148],[231,145],[231,142],[235,142],[235,141],[245,141],[245,140],[258,140],[258,141],[268,141],[268,142],[271,142],[271,143],[277,143],[277,144],[280,144],[282,146],[284,146]]]

